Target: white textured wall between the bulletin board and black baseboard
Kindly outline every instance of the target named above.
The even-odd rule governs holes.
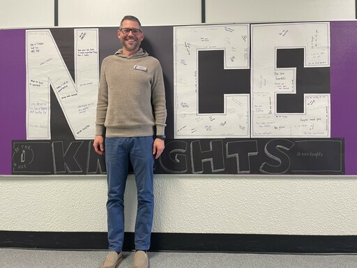
[[[0,230],[105,232],[105,176],[0,177]],[[357,233],[353,177],[155,176],[153,232]],[[126,230],[134,231],[128,178]]]

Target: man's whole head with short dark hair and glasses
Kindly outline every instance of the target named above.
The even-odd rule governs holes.
[[[139,50],[144,39],[144,33],[142,32],[142,24],[137,17],[130,15],[123,17],[118,30],[118,37],[123,45],[123,54],[130,56]]]

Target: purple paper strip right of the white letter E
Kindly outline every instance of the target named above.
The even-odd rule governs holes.
[[[345,174],[357,174],[357,22],[331,22],[331,137],[344,137]]]

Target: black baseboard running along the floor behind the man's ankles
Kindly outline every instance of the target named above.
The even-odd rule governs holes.
[[[126,232],[123,251],[132,251],[134,233]],[[0,248],[107,250],[107,232],[0,231]],[[225,253],[357,253],[357,236],[285,234],[151,234],[150,251]]]

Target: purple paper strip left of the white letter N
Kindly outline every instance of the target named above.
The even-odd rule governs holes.
[[[11,140],[26,140],[25,30],[0,30],[0,174],[11,174]]]

